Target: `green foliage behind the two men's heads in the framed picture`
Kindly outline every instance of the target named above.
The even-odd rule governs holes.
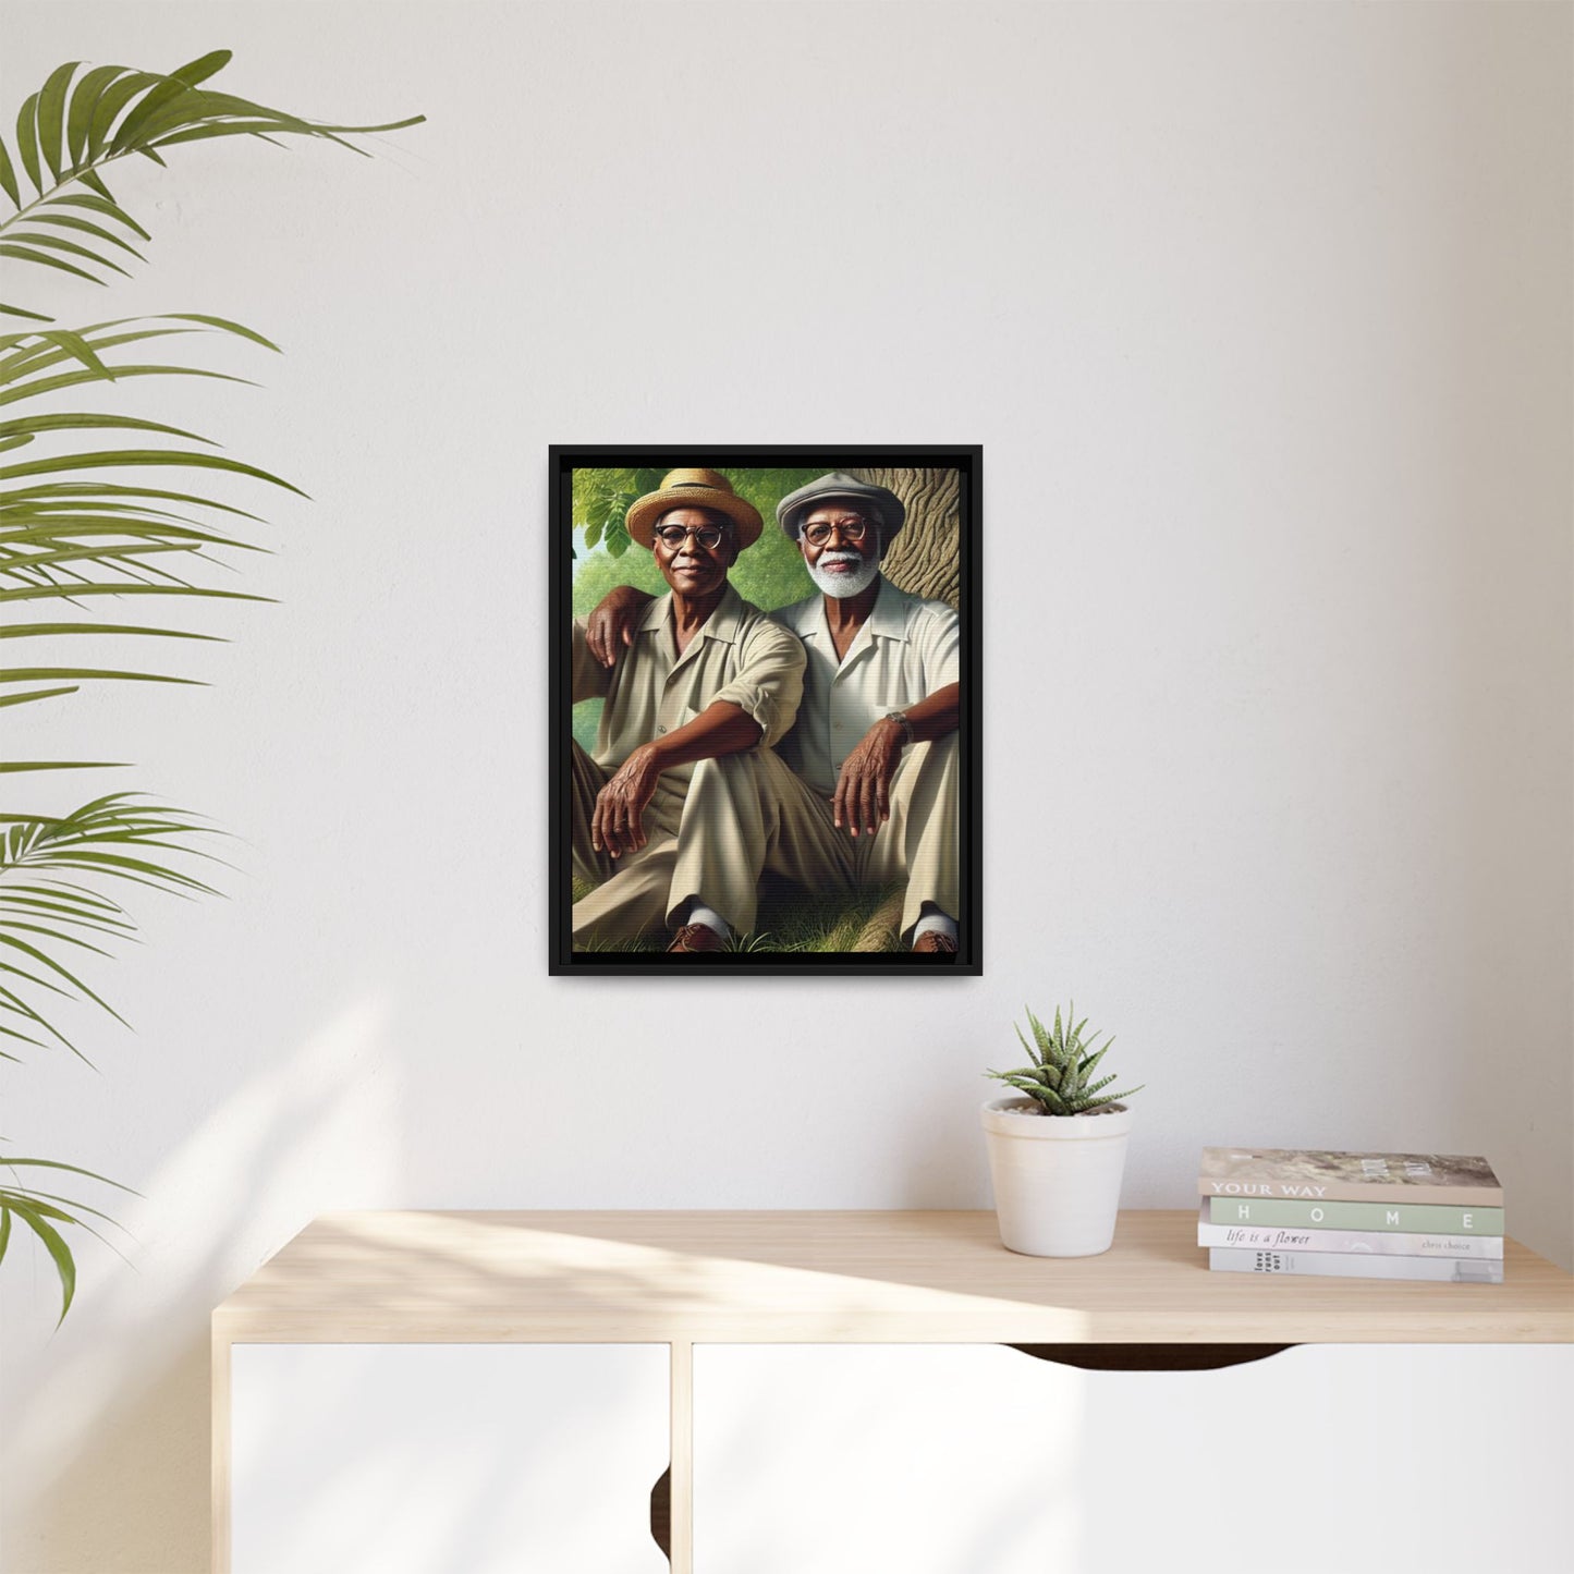
[[[600,548],[581,559],[575,570],[575,617],[584,617],[615,586],[636,586],[664,595],[667,584],[655,559],[642,546],[630,551],[625,518],[630,507],[661,485],[666,471],[578,469],[573,475],[573,524],[584,530],[584,543]],[[745,601],[765,612],[790,606],[814,595],[814,581],[803,565],[803,554],[776,527],[776,504],[823,469],[737,469],[722,472],[740,497],[748,497],[765,529],[740,554],[729,578]]]

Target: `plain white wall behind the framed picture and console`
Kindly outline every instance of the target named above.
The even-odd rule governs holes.
[[[282,469],[272,609],[31,722],[242,841],[3,1132],[135,1185],[0,1273],[0,1561],[206,1560],[206,1317],[346,1206],[987,1206],[1067,993],[1206,1143],[1486,1152],[1571,1223],[1566,5],[9,5],[63,60],[320,118],[120,195],[110,302],[274,335],[150,387]],[[9,121],[8,121],[9,124]],[[982,442],[987,974],[549,981],[546,445]],[[11,729],[8,727],[8,732]],[[14,735],[14,733],[13,733]],[[110,782],[105,781],[105,785]],[[1113,1056],[1111,1056],[1113,1059]]]

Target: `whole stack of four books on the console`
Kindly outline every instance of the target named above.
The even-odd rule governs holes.
[[[1484,1158],[1204,1147],[1196,1188],[1210,1269],[1503,1283],[1503,1188]]]

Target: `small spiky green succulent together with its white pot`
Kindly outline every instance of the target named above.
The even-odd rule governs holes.
[[[1020,1094],[984,1105],[999,1239],[1036,1258],[1094,1256],[1110,1250],[1121,1207],[1132,1111],[1119,1100],[1141,1088],[1105,1092],[1114,1077],[1094,1080],[1114,1040],[1084,1039],[1073,1007],[1064,1022],[1056,1007],[1053,1028],[1029,1011],[1028,1025],[1033,1042],[1022,1028],[1017,1037],[1033,1064],[985,1073]]]

